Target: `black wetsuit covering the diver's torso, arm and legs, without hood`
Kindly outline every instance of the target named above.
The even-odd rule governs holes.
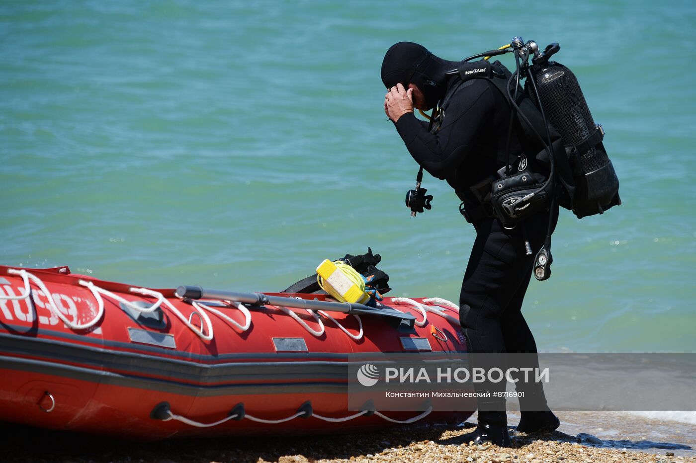
[[[439,130],[413,113],[402,115],[397,131],[413,159],[434,177],[445,179],[463,197],[467,209],[476,204],[470,187],[496,174],[503,166],[498,154],[505,152],[510,108],[503,95],[484,79],[448,82],[448,91],[459,86],[443,103]],[[508,151],[521,153],[515,133]],[[541,248],[548,227],[548,211],[505,229],[495,218],[473,219],[476,238],[459,296],[459,320],[470,352],[537,352],[532,332],[521,313],[522,301],[532,273],[533,259]],[[525,239],[532,254],[525,252]],[[503,389],[505,383],[499,384]],[[543,389],[527,393],[543,395]],[[479,401],[479,407],[482,408]],[[521,404],[522,405],[522,404]],[[500,404],[496,407],[499,409]],[[503,405],[504,407],[504,405]]]

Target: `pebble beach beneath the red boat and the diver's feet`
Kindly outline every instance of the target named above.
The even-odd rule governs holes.
[[[610,427],[624,423],[628,439],[602,440],[592,434],[567,434],[555,431],[528,436],[511,428],[512,448],[484,445],[440,445],[470,428],[447,425],[383,428],[376,432],[355,434],[319,434],[315,436],[253,438],[169,439],[155,442],[118,441],[84,434],[51,432],[4,424],[4,462],[61,463],[372,463],[372,462],[477,462],[477,463],[667,463],[696,462],[692,438],[679,434],[693,432],[694,425],[656,423],[625,416],[587,419],[587,412],[565,412],[559,416],[579,419],[585,416],[585,429],[595,425]],[[468,423],[470,426],[472,423]],[[654,430],[664,426],[673,429],[672,439],[665,442],[649,440]],[[561,430],[570,425],[563,421]],[[677,429],[678,428],[678,429]],[[601,435],[601,434],[600,434]],[[670,437],[664,436],[663,437]],[[693,434],[691,434],[693,435]],[[580,442],[578,443],[578,439]],[[596,439],[596,440],[595,440]],[[36,445],[40,442],[41,445]],[[601,444],[600,444],[601,443]],[[622,448],[622,445],[624,446]],[[671,447],[671,448],[669,448]],[[640,449],[640,450],[637,450]]]

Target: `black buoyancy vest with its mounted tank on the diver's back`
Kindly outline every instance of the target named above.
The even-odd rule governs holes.
[[[491,183],[487,198],[505,226],[548,207],[551,200],[578,218],[621,204],[619,180],[602,144],[603,129],[594,124],[576,76],[548,60],[548,50],[554,46],[557,51],[557,44],[551,44],[546,60],[528,69],[524,90],[515,88],[519,84],[512,83],[512,73],[500,61],[464,61],[457,68],[461,81],[493,83],[513,110],[512,127],[524,152],[521,156],[498,154],[505,168],[499,172],[501,178]],[[538,99],[530,79],[535,79]]]

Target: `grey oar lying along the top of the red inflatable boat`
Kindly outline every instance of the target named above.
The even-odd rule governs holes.
[[[350,302],[329,302],[326,300],[307,300],[297,298],[283,298],[280,296],[265,295],[263,293],[236,293],[233,291],[219,291],[217,289],[203,289],[200,286],[179,286],[176,295],[184,299],[219,299],[243,302],[252,305],[280,305],[294,307],[296,309],[326,310],[342,312],[351,315],[379,315],[387,320],[399,320],[399,324],[413,327],[416,317],[409,313],[400,312],[391,307],[368,307],[364,304]]]

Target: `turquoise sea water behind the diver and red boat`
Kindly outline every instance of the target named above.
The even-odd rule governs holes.
[[[693,352],[695,26],[688,1],[4,1],[0,261],[278,291],[369,245],[390,295],[456,301],[473,228],[427,176],[409,216],[379,67],[522,35],[560,42],[624,202],[562,214],[523,309],[539,348]]]

